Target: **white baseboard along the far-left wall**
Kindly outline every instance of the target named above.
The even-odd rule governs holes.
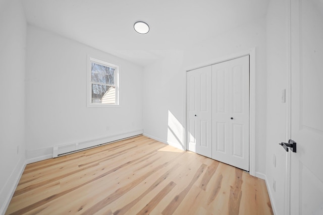
[[[3,188],[0,191],[0,196],[3,195],[10,195],[7,196],[6,200],[3,202],[0,208],[0,214],[5,214],[9,203],[11,201],[11,198],[13,197],[15,190],[18,186],[18,183],[20,181],[20,178],[22,176],[22,173],[24,172],[26,167],[26,163],[24,162],[24,158],[19,159],[17,165],[15,166],[14,170],[12,171],[10,177],[8,178],[6,184],[3,186]],[[13,183],[10,183],[13,182]]]

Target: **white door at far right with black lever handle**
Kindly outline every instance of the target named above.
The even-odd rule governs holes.
[[[323,214],[323,1],[291,1],[290,214]]]

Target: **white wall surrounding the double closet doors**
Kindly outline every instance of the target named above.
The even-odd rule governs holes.
[[[266,21],[252,21],[186,50],[170,51],[144,69],[144,133],[181,148],[184,144],[185,69],[256,47],[256,173],[265,173]],[[170,112],[172,114],[170,114]],[[169,118],[172,118],[172,123]],[[170,124],[172,130],[170,131]],[[174,133],[176,135],[174,135]],[[175,138],[174,136],[177,136]]]

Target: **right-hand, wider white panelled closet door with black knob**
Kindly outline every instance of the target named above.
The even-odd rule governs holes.
[[[249,56],[212,65],[212,158],[249,171]]]

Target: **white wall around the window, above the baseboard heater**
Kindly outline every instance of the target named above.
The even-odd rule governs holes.
[[[86,106],[88,55],[120,66],[120,107]],[[29,25],[26,95],[27,159],[45,158],[55,145],[142,129],[142,67]]]

